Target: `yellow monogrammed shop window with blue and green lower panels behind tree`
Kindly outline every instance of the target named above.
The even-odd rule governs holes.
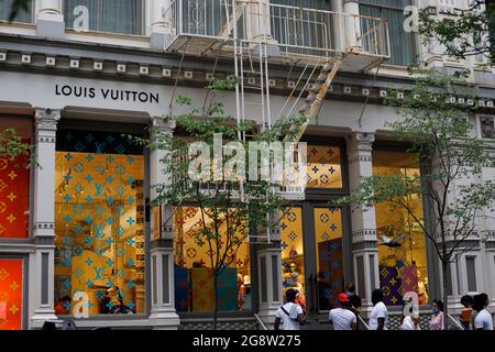
[[[174,212],[175,307],[177,311],[211,312],[215,307],[215,285],[211,261],[217,258],[207,241],[198,243],[198,231],[212,224],[211,218],[195,207],[178,208]],[[220,238],[227,243],[227,234]],[[220,249],[220,256],[224,253]],[[250,246],[244,241],[227,252],[228,262],[219,277],[219,311],[252,309]]]

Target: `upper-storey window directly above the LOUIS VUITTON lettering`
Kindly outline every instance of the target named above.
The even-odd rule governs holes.
[[[65,0],[67,28],[75,28],[75,22],[86,14],[90,31],[143,34],[143,0]]]

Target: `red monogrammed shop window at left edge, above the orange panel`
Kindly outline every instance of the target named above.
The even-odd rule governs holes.
[[[31,144],[32,118],[0,116],[0,131],[6,129]],[[12,158],[0,154],[0,239],[29,235],[30,173],[30,155]]]

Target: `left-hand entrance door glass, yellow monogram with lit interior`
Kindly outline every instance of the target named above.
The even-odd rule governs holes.
[[[306,308],[305,252],[302,244],[302,209],[290,208],[282,212],[279,223],[282,246],[283,297],[287,289],[299,293],[298,302]]]

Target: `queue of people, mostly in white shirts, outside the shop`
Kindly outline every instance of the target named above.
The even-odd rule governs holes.
[[[288,289],[286,293],[286,304],[276,311],[275,330],[299,330],[307,323],[306,312],[297,304],[297,290]],[[373,309],[370,314],[370,330],[387,330],[388,309],[383,301],[382,289],[372,293]],[[461,311],[461,324],[464,330],[495,330],[492,314],[487,310],[490,299],[486,294],[463,296],[461,298],[463,309]],[[350,283],[345,286],[345,292],[338,295],[338,301],[333,309],[329,311],[328,320],[333,326],[333,330],[359,330],[361,311],[361,297],[355,294],[355,286]],[[441,300],[435,299],[431,302],[431,318],[429,330],[444,329],[444,305]],[[400,330],[421,330],[420,317],[417,309],[413,309],[410,301],[405,301]]]

